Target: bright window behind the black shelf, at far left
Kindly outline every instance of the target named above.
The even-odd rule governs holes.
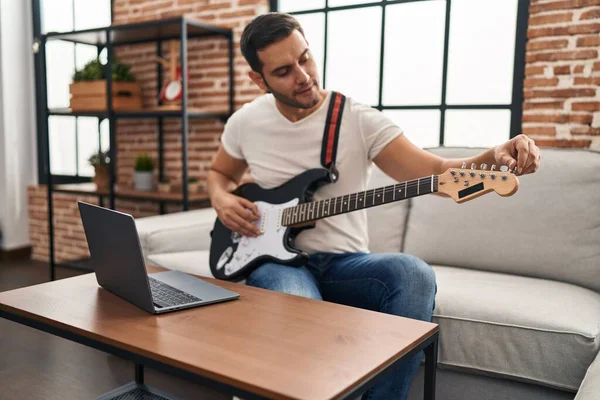
[[[33,0],[34,36],[48,32],[66,32],[111,24],[111,0]],[[69,107],[69,84],[75,69],[105,53],[96,46],[52,40],[46,44],[46,91],[50,109]],[[104,57],[102,57],[104,56]],[[41,72],[40,72],[41,73]],[[36,96],[43,94],[39,88]],[[38,129],[40,129],[38,127]],[[38,142],[44,143],[42,133]],[[94,170],[88,158],[98,149],[107,150],[108,120],[97,117],[51,115],[48,118],[50,170],[58,182],[87,180]],[[40,140],[41,139],[41,140]],[[46,182],[45,148],[38,144],[39,181]]]

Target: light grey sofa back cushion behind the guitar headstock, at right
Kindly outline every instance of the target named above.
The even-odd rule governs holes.
[[[436,149],[444,157],[483,149]],[[600,292],[600,153],[542,149],[510,197],[411,202],[405,253],[454,265],[574,283]]]

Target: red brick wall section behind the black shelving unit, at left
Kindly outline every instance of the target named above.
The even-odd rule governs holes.
[[[256,15],[268,11],[267,0],[115,0],[114,24],[124,24],[172,18],[185,15],[203,22],[229,27],[234,31],[235,107],[251,101],[260,91],[248,78],[247,66],[239,49],[244,26]],[[179,42],[177,42],[179,46]],[[179,48],[179,47],[178,47]],[[144,105],[157,104],[156,45],[143,44],[116,48],[120,61],[132,66],[132,72],[142,86]],[[162,44],[163,57],[168,58],[168,43]],[[220,38],[188,40],[189,106],[203,111],[227,112],[229,107],[229,60],[227,41]],[[164,75],[163,75],[164,76]],[[165,176],[181,179],[181,121],[165,119]],[[117,182],[133,185],[135,156],[144,152],[155,159],[157,150],[157,120],[119,120],[117,137]],[[201,181],[217,150],[223,123],[213,119],[190,119],[188,134],[188,175]],[[29,229],[33,246],[32,257],[48,260],[48,209],[45,187],[29,188]],[[76,200],[98,204],[96,197],[54,195],[54,227],[56,260],[64,261],[89,256]],[[116,207],[139,218],[158,213],[158,205],[143,201],[116,201]],[[181,207],[168,207],[167,212]]]

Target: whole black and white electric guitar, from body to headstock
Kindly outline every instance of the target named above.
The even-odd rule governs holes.
[[[445,193],[457,203],[495,191],[511,196],[519,188],[514,171],[502,167],[496,171],[484,164],[481,169],[451,168],[441,175],[431,175],[395,185],[370,189],[344,196],[313,201],[314,192],[330,183],[324,168],[308,170],[283,185],[263,189],[255,183],[239,186],[233,194],[252,201],[259,210],[255,221],[261,234],[241,236],[217,218],[211,232],[210,269],[218,279],[240,281],[265,262],[304,265],[308,255],[294,248],[294,238],[304,229],[313,228],[321,218],[375,207],[430,193]]]

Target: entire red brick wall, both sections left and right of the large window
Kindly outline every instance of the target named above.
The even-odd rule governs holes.
[[[249,67],[240,54],[243,27],[268,10],[267,0],[115,0],[114,23],[130,23],[186,15],[234,29],[236,108],[260,94],[247,77]],[[524,88],[523,132],[541,146],[600,148],[600,0],[531,0]],[[147,106],[156,104],[155,45],[117,50],[140,81]],[[227,110],[228,70],[226,41],[189,41],[190,106]],[[167,54],[166,43],[163,54]],[[165,120],[165,172],[170,179],[181,173],[181,135],[177,119]],[[121,120],[117,125],[118,182],[132,184],[137,153],[156,157],[156,121]],[[217,149],[223,124],[190,120],[188,159],[190,176],[204,180]],[[30,232],[33,257],[47,259],[45,188],[32,187]],[[75,196],[55,197],[57,259],[86,257],[87,247],[75,207]],[[81,198],[95,202],[95,198]],[[117,201],[117,207],[135,217],[156,214],[155,204]],[[175,211],[171,208],[169,211]]]

